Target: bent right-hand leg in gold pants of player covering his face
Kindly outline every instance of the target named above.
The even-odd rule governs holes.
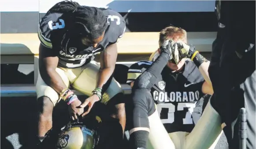
[[[186,137],[186,149],[208,149],[221,132],[221,118],[208,102],[199,121]]]

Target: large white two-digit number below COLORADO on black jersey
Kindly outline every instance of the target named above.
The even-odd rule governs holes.
[[[193,124],[192,112],[196,107],[196,103],[178,103],[177,110],[182,111],[184,108],[188,108],[186,117],[183,118],[183,124]],[[167,119],[161,119],[163,124],[171,124],[174,122],[175,106],[172,103],[160,103],[157,105],[158,114],[160,115],[162,108],[168,109]]]

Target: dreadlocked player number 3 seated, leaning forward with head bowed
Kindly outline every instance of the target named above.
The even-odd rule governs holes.
[[[60,100],[67,103],[73,120],[88,114],[95,102],[104,103],[115,108],[112,116],[124,129],[123,90],[112,73],[117,58],[116,43],[125,29],[126,23],[119,13],[73,1],[55,4],[41,18],[36,85],[40,140],[52,128],[52,110]],[[100,53],[100,65],[93,61],[96,53]],[[70,87],[89,98],[81,103]]]

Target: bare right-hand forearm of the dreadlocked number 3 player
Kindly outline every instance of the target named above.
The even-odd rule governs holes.
[[[104,84],[108,81],[108,79],[111,77],[115,70],[114,67],[108,67],[108,68],[102,68],[99,71],[99,80],[98,80],[98,85],[97,87],[102,88]]]

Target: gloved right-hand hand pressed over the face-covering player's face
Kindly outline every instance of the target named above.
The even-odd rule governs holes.
[[[190,58],[196,52],[195,46],[188,45],[183,41],[173,42],[172,48],[175,48],[174,51],[178,51],[181,58]]]

